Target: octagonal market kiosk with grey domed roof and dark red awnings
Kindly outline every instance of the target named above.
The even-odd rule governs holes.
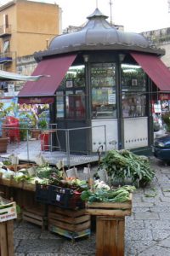
[[[93,154],[100,145],[149,153],[152,97],[170,89],[160,60],[164,50],[141,34],[117,30],[106,18],[95,9],[82,30],[54,37],[47,50],[35,53],[33,74],[51,77],[26,83],[19,101],[52,99],[51,118],[58,129],[71,129],[72,153]],[[65,150],[65,134],[58,134]]]

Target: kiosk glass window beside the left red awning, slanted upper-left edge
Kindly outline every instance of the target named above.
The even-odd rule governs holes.
[[[56,117],[85,118],[85,66],[72,66],[59,85],[56,97]]]

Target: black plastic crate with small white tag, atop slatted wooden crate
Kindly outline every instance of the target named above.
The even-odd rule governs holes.
[[[85,205],[80,195],[73,189],[51,186],[49,204],[67,209],[83,208]]]

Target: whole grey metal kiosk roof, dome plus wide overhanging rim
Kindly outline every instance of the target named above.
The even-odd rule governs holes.
[[[35,54],[35,58],[78,50],[128,49],[152,53],[159,51],[150,47],[149,41],[141,34],[122,32],[115,26],[111,26],[106,20],[108,17],[103,15],[99,9],[95,9],[94,13],[87,18],[87,24],[80,31],[54,37],[48,50]]]

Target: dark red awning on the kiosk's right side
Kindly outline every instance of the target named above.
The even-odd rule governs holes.
[[[131,55],[161,91],[170,90],[170,71],[158,56],[141,53],[131,53]]]

